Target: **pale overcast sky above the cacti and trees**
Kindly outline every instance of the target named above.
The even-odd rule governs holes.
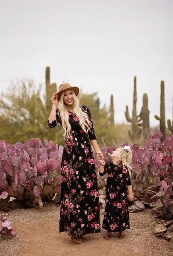
[[[132,115],[133,80],[137,109],[148,94],[150,124],[160,111],[165,81],[166,118],[172,120],[173,0],[0,0],[0,91],[10,80],[68,81],[96,92],[115,121]]]

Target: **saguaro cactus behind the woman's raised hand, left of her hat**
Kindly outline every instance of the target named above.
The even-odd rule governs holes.
[[[46,108],[48,112],[51,110],[51,96],[57,90],[57,84],[50,84],[50,68],[46,67],[45,71],[45,84],[46,84]]]

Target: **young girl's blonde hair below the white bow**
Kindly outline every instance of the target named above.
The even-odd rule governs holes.
[[[132,178],[132,174],[130,172],[130,170],[133,171],[132,166],[130,165],[130,163],[132,162],[132,151],[128,151],[124,148],[122,148],[122,150],[120,151],[119,155],[118,155],[118,165],[122,166],[122,168],[124,169],[125,167],[128,168],[129,170],[129,174],[130,174],[130,178]]]

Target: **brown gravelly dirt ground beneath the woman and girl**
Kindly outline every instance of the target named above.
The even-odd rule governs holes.
[[[1,212],[0,212],[1,213]],[[100,210],[101,220],[103,210]],[[100,234],[84,236],[82,244],[59,233],[59,206],[44,204],[43,209],[11,210],[8,215],[17,227],[15,238],[0,238],[0,256],[171,256],[171,242],[157,238],[153,228],[159,221],[151,210],[130,214],[131,229],[126,238],[114,234],[110,240]]]

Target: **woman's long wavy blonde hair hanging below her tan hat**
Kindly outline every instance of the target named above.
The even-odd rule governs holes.
[[[88,118],[88,115],[85,112],[83,112],[81,107],[79,106],[79,100],[75,95],[75,92],[73,90],[72,92],[73,92],[73,99],[74,99],[73,116],[76,116],[78,118],[81,128],[85,133],[87,133],[88,130],[90,130],[92,124]],[[63,134],[63,137],[65,139],[65,138],[70,138],[71,136],[71,125],[69,124],[69,112],[68,112],[67,106],[63,102],[64,93],[65,92],[62,92],[60,95],[58,114],[61,118],[62,126],[65,131]]]

